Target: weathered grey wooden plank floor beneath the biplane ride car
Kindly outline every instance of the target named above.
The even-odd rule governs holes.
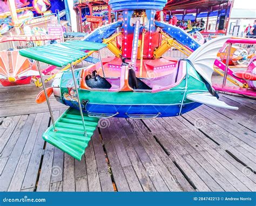
[[[101,119],[77,161],[49,145],[33,85],[0,87],[0,191],[255,191],[255,100],[173,118]],[[51,98],[57,118],[66,107]]]

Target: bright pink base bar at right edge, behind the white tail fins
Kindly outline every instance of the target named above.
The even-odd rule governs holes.
[[[220,92],[230,92],[235,94],[242,94],[247,95],[251,97],[256,97],[256,91],[251,90],[250,88],[241,88],[237,86],[224,86],[222,84],[214,84],[213,85],[214,90],[220,91]]]

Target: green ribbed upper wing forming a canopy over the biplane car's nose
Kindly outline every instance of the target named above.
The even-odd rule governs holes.
[[[84,50],[98,51],[106,46],[106,44],[102,43],[76,40],[21,49],[19,50],[19,54],[46,64],[62,67],[87,56],[87,53],[83,52]]]

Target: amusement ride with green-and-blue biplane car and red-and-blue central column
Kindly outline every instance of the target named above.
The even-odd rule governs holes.
[[[44,91],[36,101],[46,101],[52,125],[43,134],[46,142],[81,160],[100,118],[153,119],[184,114],[201,104],[238,109],[220,101],[211,83],[217,53],[230,37],[204,44],[177,26],[155,20],[166,0],[110,0],[113,11],[123,12],[123,20],[101,26],[84,40],[66,41],[19,50],[37,61]],[[115,57],[102,58],[107,47]],[[174,60],[163,57],[171,47],[189,56]],[[77,61],[99,61],[83,68]],[[70,66],[57,73],[46,88],[38,61],[56,67]],[[49,97],[70,106],[56,121]]]

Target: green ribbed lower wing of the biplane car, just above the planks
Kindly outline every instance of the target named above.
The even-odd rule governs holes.
[[[53,131],[51,125],[43,134],[43,139],[75,159],[81,160],[99,119],[84,115],[84,121],[87,136],[84,135],[80,112],[70,107],[55,121],[57,131]]]

